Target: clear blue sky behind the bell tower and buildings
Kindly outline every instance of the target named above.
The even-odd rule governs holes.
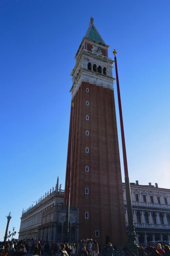
[[[130,181],[170,187],[169,10],[169,0],[0,2],[0,240],[10,211],[18,232],[57,176],[64,189],[70,73],[90,16],[117,51]]]

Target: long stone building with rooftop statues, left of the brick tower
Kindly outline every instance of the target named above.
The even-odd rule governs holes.
[[[57,180],[58,182],[58,180]],[[64,190],[57,185],[45,193],[35,206],[23,211],[18,240],[48,240],[61,243],[65,233],[66,207],[63,206]],[[70,241],[77,242],[79,236],[79,208],[70,207]]]

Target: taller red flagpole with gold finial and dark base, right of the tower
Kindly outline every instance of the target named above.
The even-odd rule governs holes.
[[[128,248],[133,254],[138,256],[138,243],[135,233],[135,225],[133,220],[132,204],[131,204],[131,188],[129,183],[129,174],[128,174],[128,162],[126,156],[126,145],[125,145],[125,135],[123,127],[123,116],[122,116],[122,105],[120,98],[120,88],[119,88],[119,78],[117,71],[117,59],[116,59],[116,50],[114,49],[113,54],[115,55],[115,70],[116,70],[116,84],[117,84],[117,97],[118,97],[118,106],[119,106],[119,116],[120,116],[120,129],[122,137],[122,151],[123,151],[123,164],[125,172],[125,188],[126,188],[126,200],[127,200],[127,212],[128,212]]]

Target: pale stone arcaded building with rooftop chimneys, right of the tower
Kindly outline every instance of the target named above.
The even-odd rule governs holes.
[[[130,183],[135,232],[139,244],[170,241],[170,189],[158,184]],[[126,190],[123,183],[126,226],[128,225]]]

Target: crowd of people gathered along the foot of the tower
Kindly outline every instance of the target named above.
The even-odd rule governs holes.
[[[118,256],[120,250],[117,250],[115,244],[108,243],[104,246],[98,246],[96,240],[86,239],[81,240],[77,244],[73,243],[72,246],[69,243],[60,244],[49,244],[48,241],[35,241],[32,243],[32,247],[29,248],[28,243],[24,240],[19,242],[1,242],[0,244],[0,256],[24,256],[30,250],[32,255],[44,256]],[[121,255],[129,255],[129,249],[123,248]],[[139,256],[170,256],[170,247],[168,245],[150,245],[138,248]]]

